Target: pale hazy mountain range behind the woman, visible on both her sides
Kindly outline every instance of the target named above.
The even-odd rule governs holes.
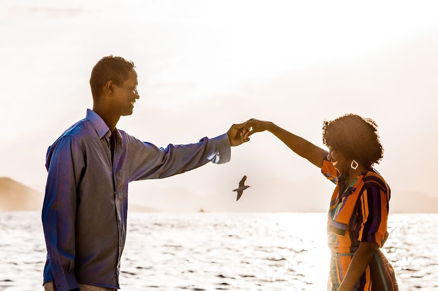
[[[133,187],[130,190],[130,203],[147,205],[170,212],[326,212],[330,203],[334,185],[327,180],[288,182],[272,179],[271,183],[256,181],[245,190],[242,198],[236,202],[236,194],[205,193],[199,195],[184,187]],[[303,187],[303,185],[307,185]],[[297,189],[303,189],[297,191]],[[438,197],[420,192],[398,191],[392,189],[389,203],[390,213],[438,213]]]

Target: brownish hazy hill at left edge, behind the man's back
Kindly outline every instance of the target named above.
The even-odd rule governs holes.
[[[0,211],[41,210],[44,195],[11,178],[0,177]]]

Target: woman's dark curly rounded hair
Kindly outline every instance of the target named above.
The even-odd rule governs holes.
[[[324,145],[367,168],[379,164],[383,158],[377,123],[371,118],[348,113],[331,121],[324,120],[322,129]]]

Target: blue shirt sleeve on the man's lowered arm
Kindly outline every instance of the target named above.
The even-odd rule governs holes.
[[[42,225],[58,291],[78,288],[74,275],[76,187],[85,167],[79,142],[63,136],[49,147]]]

